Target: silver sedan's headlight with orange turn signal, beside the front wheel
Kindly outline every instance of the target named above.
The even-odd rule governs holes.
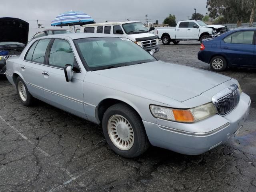
[[[200,121],[217,113],[212,103],[185,110],[150,105],[150,111],[156,118],[186,123]]]

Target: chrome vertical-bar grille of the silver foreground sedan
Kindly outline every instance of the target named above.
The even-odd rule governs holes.
[[[231,85],[212,97],[218,114],[224,116],[231,112],[240,101],[240,91],[236,84]]]

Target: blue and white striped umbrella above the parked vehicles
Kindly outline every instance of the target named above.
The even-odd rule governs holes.
[[[52,26],[69,26],[92,24],[94,20],[84,12],[68,11],[58,15],[53,21]]]

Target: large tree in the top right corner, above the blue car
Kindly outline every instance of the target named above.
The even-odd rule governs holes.
[[[242,22],[248,22],[254,16],[254,0],[207,0],[206,8],[209,16],[216,19],[223,16],[227,23],[234,23],[239,27]],[[252,19],[253,20],[253,19]]]

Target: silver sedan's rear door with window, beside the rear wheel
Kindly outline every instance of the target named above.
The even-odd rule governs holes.
[[[45,54],[50,40],[48,38],[34,42],[20,65],[20,73],[26,81],[29,92],[42,100],[44,99],[42,71],[45,67]]]

